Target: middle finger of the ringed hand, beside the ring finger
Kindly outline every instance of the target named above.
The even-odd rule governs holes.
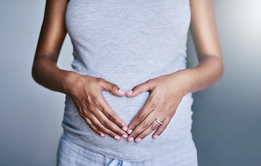
[[[159,118],[159,120],[161,119],[160,113],[157,110],[153,110],[142,122],[140,122],[140,124],[137,125],[133,132],[129,134],[128,142],[131,142],[140,133],[142,133],[142,131],[147,129],[155,121],[156,118]]]

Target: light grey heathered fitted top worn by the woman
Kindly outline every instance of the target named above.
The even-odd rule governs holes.
[[[102,77],[122,90],[153,77],[186,68],[190,26],[189,0],[71,0],[66,26],[74,46],[71,71]],[[129,124],[142,108],[149,91],[134,98],[103,96]],[[139,143],[96,134],[66,97],[62,121],[65,138],[91,151],[119,160],[148,160],[178,149],[192,139],[192,94],[185,95],[167,129],[153,140]]]

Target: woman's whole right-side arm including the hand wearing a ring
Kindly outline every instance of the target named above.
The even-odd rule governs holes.
[[[166,129],[178,104],[187,93],[201,91],[216,83],[224,73],[223,55],[214,19],[214,4],[210,0],[190,1],[190,30],[199,64],[195,68],[155,77],[126,93],[134,97],[150,91],[148,100],[128,126],[128,141],[140,142],[152,131],[157,138]],[[163,122],[159,124],[155,119]]]

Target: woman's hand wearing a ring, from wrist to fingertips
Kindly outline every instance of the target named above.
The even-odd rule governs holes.
[[[144,91],[150,91],[144,106],[128,125],[128,142],[133,139],[140,142],[157,128],[153,139],[160,136],[176,113],[183,96],[187,94],[186,81],[176,72],[147,80],[126,93],[127,97],[135,97]]]

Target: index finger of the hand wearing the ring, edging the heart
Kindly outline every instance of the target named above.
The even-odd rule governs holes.
[[[153,111],[154,106],[151,104],[151,98],[152,96],[149,95],[149,98],[146,100],[142,109],[140,109],[133,120],[131,120],[130,124],[128,124],[128,134],[130,134],[135,127],[137,127],[137,125],[140,124],[140,122],[142,122],[149,115],[149,113],[151,113],[151,111]]]

